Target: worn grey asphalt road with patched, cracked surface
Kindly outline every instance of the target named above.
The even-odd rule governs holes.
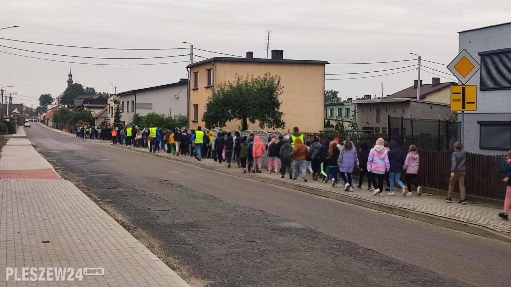
[[[198,286],[511,282],[511,244],[69,138],[36,123],[25,130],[63,177],[107,200],[102,205],[147,234],[149,247]]]

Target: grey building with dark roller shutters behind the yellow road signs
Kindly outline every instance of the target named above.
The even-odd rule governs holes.
[[[459,32],[463,49],[481,65],[466,83],[477,86],[477,111],[464,112],[464,149],[505,154],[511,150],[511,22]]]

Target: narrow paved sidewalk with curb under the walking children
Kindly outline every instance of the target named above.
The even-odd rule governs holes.
[[[497,216],[499,212],[502,212],[502,206],[470,201],[466,205],[460,205],[457,204],[457,199],[454,199],[452,203],[446,203],[444,202],[444,197],[427,194],[427,188],[424,188],[426,192],[423,192],[423,195],[420,197],[416,196],[416,192],[413,192],[413,197],[403,197],[402,189],[400,188],[394,189],[396,196],[390,197],[387,196],[387,192],[383,192],[382,197],[374,197],[372,192],[366,191],[366,183],[363,185],[362,190],[355,189],[354,192],[344,192],[344,186],[332,187],[331,182],[324,184],[320,180],[313,181],[311,175],[308,176],[308,182],[303,182],[301,177],[298,178],[298,181],[294,182],[287,175],[285,179],[282,179],[280,175],[268,174],[267,171],[263,171],[261,174],[243,174],[241,169],[236,168],[236,163],[231,164],[232,168],[227,169],[226,163],[218,164],[212,159],[197,161],[189,156],[175,156],[163,151],[160,153],[150,153],[145,148],[134,149],[120,145],[112,145],[112,147],[179,161],[212,171],[262,181],[414,220],[511,242],[511,221],[501,220]]]

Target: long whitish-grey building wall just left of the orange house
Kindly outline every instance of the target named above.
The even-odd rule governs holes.
[[[179,118],[187,116],[188,79],[177,83],[136,89],[118,93],[122,121],[131,122],[133,114],[142,116],[151,112]]]

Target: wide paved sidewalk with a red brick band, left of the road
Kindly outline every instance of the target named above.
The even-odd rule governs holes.
[[[63,180],[28,139],[10,138],[3,148],[0,193],[0,271],[17,268],[21,278],[24,267],[104,268],[102,276],[83,275],[81,281],[77,277],[59,283],[15,281],[12,275],[1,286],[189,286]],[[29,273],[27,278],[34,276]]]

